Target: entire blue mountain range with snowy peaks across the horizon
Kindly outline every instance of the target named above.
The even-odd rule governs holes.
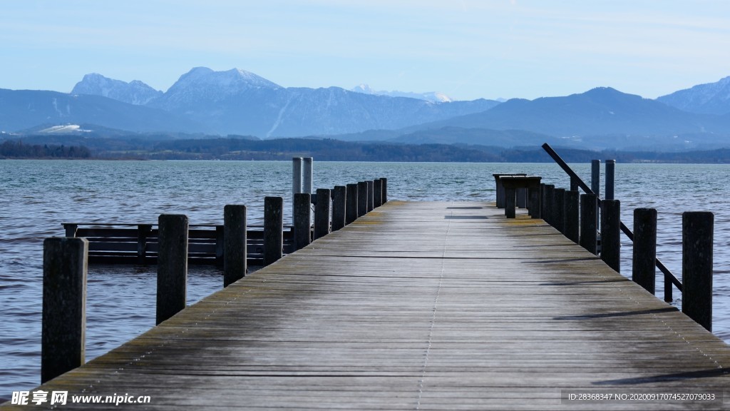
[[[372,91],[364,85],[283,87],[244,70],[205,67],[191,69],[164,92],[99,74],[85,75],[70,94],[0,89],[0,131],[37,132],[63,124],[133,133],[505,147],[545,141],[583,148],[730,146],[730,77],[658,99],[598,87],[506,102],[453,101],[443,94]]]

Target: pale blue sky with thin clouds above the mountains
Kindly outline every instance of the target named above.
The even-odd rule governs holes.
[[[453,99],[646,98],[730,76],[727,0],[0,0],[0,88],[193,67]]]

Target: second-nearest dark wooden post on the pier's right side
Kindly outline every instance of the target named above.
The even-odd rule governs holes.
[[[634,210],[634,252],[631,258],[631,279],[649,293],[656,292],[656,210]],[[672,283],[669,283],[672,290]]]

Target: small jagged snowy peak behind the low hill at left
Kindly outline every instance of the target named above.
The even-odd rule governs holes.
[[[71,94],[91,94],[109,97],[133,105],[145,105],[160,97],[162,91],[155,90],[139,80],[127,83],[126,81],[114,80],[97,73],[91,73],[85,75],[80,82],[76,83]]]

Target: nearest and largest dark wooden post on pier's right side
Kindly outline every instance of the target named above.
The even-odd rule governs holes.
[[[682,214],[682,312],[712,331],[712,237],[709,211]]]

